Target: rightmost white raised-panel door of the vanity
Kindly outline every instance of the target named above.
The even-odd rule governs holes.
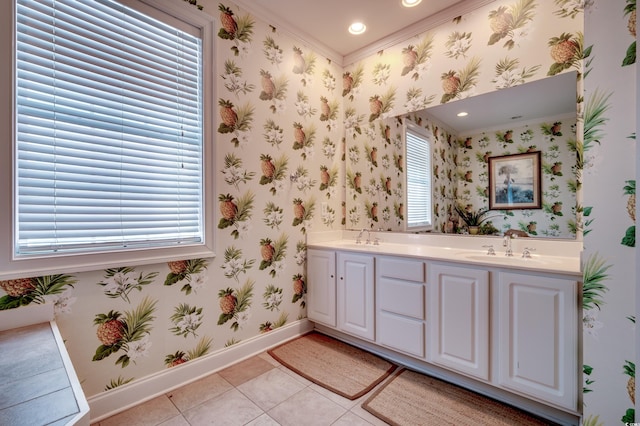
[[[499,384],[575,410],[577,282],[503,272],[498,292]]]

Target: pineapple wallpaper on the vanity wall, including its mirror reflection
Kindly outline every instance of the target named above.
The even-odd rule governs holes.
[[[561,72],[581,73],[588,51],[582,48],[581,21],[575,17],[582,15],[582,7],[580,2],[563,1],[499,3],[487,13],[477,10],[458,17],[348,66],[349,84],[343,92],[349,114],[347,228],[404,229],[400,125],[411,119],[433,138],[435,230],[456,231],[456,203],[472,209],[487,206],[487,154],[542,150],[543,209],[503,211],[489,230],[513,228],[532,236],[575,238],[581,226],[576,211],[581,166],[576,161],[580,135],[575,119],[564,126],[554,120],[491,134],[457,135],[422,110]],[[354,92],[363,96],[356,98]]]

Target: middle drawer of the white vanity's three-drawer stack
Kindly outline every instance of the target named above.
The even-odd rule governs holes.
[[[380,310],[424,319],[424,284],[381,277],[377,301]]]

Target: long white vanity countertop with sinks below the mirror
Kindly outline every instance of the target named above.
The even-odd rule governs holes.
[[[509,257],[505,255],[503,239],[495,236],[372,231],[371,243],[366,244],[367,233],[365,232],[362,242],[357,244],[358,233],[358,231],[311,232],[307,235],[307,247],[582,276],[582,243],[578,241],[515,238],[511,240],[513,256]],[[379,239],[377,245],[373,243],[375,238]],[[488,255],[488,247],[483,246],[493,246],[496,254]],[[522,257],[525,248],[531,250],[531,258]]]

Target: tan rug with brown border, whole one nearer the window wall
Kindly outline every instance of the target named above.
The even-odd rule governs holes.
[[[316,332],[267,352],[302,377],[348,399],[369,392],[396,369],[382,358]]]

